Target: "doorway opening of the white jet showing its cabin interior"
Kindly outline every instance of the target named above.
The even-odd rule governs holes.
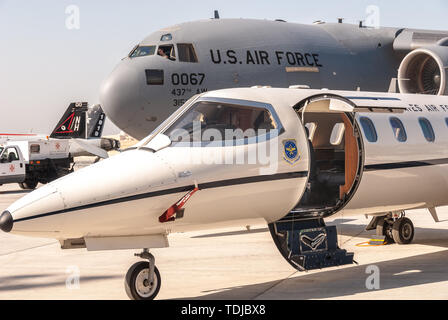
[[[358,127],[353,113],[331,110],[335,101],[317,98],[295,107],[310,152],[308,186],[294,210],[296,216],[332,215],[345,206],[360,181],[363,152]]]

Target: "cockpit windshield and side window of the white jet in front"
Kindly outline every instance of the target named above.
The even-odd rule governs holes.
[[[165,135],[173,142],[229,141],[261,136],[276,128],[267,109],[200,101]]]

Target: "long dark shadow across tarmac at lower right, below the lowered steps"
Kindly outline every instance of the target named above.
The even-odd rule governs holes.
[[[286,263],[286,262],[285,262]],[[419,256],[378,262],[380,289],[403,289],[410,286],[448,281],[448,250]],[[299,273],[298,273],[299,274]],[[370,292],[366,288],[366,265],[303,274],[300,277],[254,285],[216,289],[212,294],[186,299],[325,299]],[[448,296],[448,293],[447,293]],[[400,295],[396,296],[400,299]],[[416,296],[416,299],[431,298]]]

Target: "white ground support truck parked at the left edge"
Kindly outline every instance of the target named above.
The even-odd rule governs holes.
[[[0,184],[34,189],[73,171],[69,140],[10,141],[0,145]]]

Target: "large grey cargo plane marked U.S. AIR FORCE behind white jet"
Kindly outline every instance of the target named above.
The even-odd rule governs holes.
[[[144,138],[201,92],[255,85],[445,95],[448,31],[208,19],[156,31],[104,81],[101,104]]]

